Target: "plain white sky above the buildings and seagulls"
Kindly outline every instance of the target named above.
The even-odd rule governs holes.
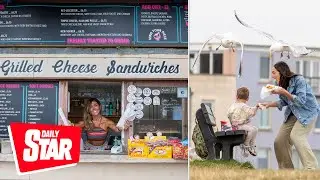
[[[189,0],[189,38],[202,43],[215,33],[232,32],[244,44],[272,42],[234,17],[289,44],[320,48],[317,0]],[[215,42],[214,40],[212,42]]]

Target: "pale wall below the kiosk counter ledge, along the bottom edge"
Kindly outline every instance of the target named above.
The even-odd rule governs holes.
[[[30,180],[186,180],[188,164],[172,163],[79,163],[74,167],[18,176],[13,162],[0,162],[0,179]]]

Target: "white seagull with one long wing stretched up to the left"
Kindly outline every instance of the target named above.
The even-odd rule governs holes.
[[[251,28],[254,31],[262,34],[263,36],[267,37],[268,39],[270,39],[271,41],[273,41],[272,45],[269,48],[269,54],[270,54],[270,59],[272,57],[272,54],[274,52],[280,52],[280,58],[283,57],[283,52],[287,52],[288,55],[288,59],[290,59],[290,54],[292,54],[294,57],[302,57],[302,56],[306,56],[314,51],[309,50],[303,46],[294,46],[292,44],[288,44],[282,40],[277,40],[275,39],[271,34],[266,33],[264,31],[261,31],[259,29],[256,29],[250,25],[248,25],[247,23],[245,23],[244,21],[240,20],[240,18],[237,15],[237,12],[234,11],[234,16],[236,17],[236,19],[238,20],[238,22],[240,24],[242,24],[243,26],[247,27],[247,28]]]

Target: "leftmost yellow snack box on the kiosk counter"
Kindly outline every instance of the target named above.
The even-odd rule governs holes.
[[[147,158],[149,147],[144,139],[128,140],[128,156],[129,158]]]

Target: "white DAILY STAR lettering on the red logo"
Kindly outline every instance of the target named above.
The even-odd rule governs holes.
[[[55,130],[28,130],[25,134],[25,144],[29,148],[23,150],[23,160],[35,162],[40,160],[72,160],[70,150],[72,141],[68,138],[58,137],[59,131]]]

